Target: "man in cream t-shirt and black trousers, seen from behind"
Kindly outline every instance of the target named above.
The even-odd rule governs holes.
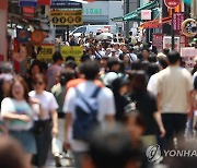
[[[158,106],[166,130],[166,143],[173,145],[174,133],[184,141],[187,115],[192,112],[193,80],[190,73],[179,67],[177,51],[171,51],[167,60],[169,68],[161,71],[158,77]]]

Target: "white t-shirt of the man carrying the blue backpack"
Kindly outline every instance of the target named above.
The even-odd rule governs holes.
[[[92,96],[93,92],[96,88],[96,85],[93,82],[86,81],[84,83],[81,83],[78,85],[78,88],[80,93],[86,97]],[[63,111],[67,113],[71,113],[72,119],[76,119],[76,104],[74,99],[77,97],[76,89],[72,87],[68,91],[65,105],[63,105]],[[105,121],[105,117],[107,115],[115,115],[115,104],[114,104],[114,96],[109,88],[103,87],[101,88],[99,95],[97,95],[97,101],[99,101],[99,115],[97,120],[102,122]],[[74,152],[86,152],[88,151],[88,144],[83,141],[78,141],[72,139],[72,128],[69,132],[69,141],[71,144],[71,148]]]

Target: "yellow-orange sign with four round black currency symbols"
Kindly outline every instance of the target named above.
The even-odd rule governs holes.
[[[83,24],[82,11],[51,11],[50,19],[54,25],[81,25]]]

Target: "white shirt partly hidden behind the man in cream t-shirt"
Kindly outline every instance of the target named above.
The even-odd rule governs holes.
[[[150,77],[149,83],[147,85],[147,89],[152,94],[154,94],[155,96],[158,96],[158,77],[159,77],[159,73],[153,74]]]

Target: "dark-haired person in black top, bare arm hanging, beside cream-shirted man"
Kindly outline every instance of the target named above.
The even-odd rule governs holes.
[[[162,123],[161,113],[158,111],[157,98],[147,91],[147,75],[144,71],[137,71],[130,95],[131,103],[136,104],[136,109],[143,116],[147,128],[143,134],[146,146],[158,142],[158,134],[163,137],[165,129]]]

